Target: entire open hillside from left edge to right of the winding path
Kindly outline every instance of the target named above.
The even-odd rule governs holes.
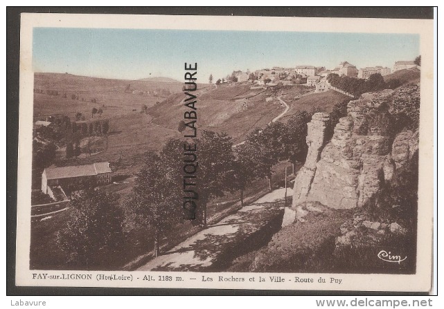
[[[141,151],[155,150],[161,147],[164,140],[178,134],[179,122],[184,117],[182,86],[174,79],[163,77],[131,81],[36,73],[34,88],[44,93],[34,95],[34,118],[44,120],[48,115],[62,114],[73,120],[80,112],[89,119],[91,109],[101,108],[102,117],[111,120],[110,131],[118,132],[109,136],[108,149],[113,150],[102,153],[104,157],[113,157],[116,153],[120,156],[121,150],[134,152],[134,147],[139,147]],[[270,89],[250,89],[250,86],[249,83],[220,85],[217,88],[199,85],[199,129],[224,131],[231,135],[234,142],[242,142],[253,129],[265,127],[284,111],[285,106],[278,100],[266,102],[267,97],[273,95]],[[58,91],[59,95],[48,95],[46,90]],[[71,95],[76,95],[78,100],[72,100]],[[285,87],[282,97],[290,105],[282,120],[300,110],[318,108],[330,111],[334,104],[346,98],[334,91],[312,93],[311,88],[304,86]],[[96,103],[91,102],[94,99]],[[136,115],[143,104],[151,107],[148,113],[152,119]]]

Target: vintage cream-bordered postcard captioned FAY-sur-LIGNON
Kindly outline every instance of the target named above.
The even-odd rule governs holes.
[[[22,14],[16,284],[429,291],[433,30]]]

